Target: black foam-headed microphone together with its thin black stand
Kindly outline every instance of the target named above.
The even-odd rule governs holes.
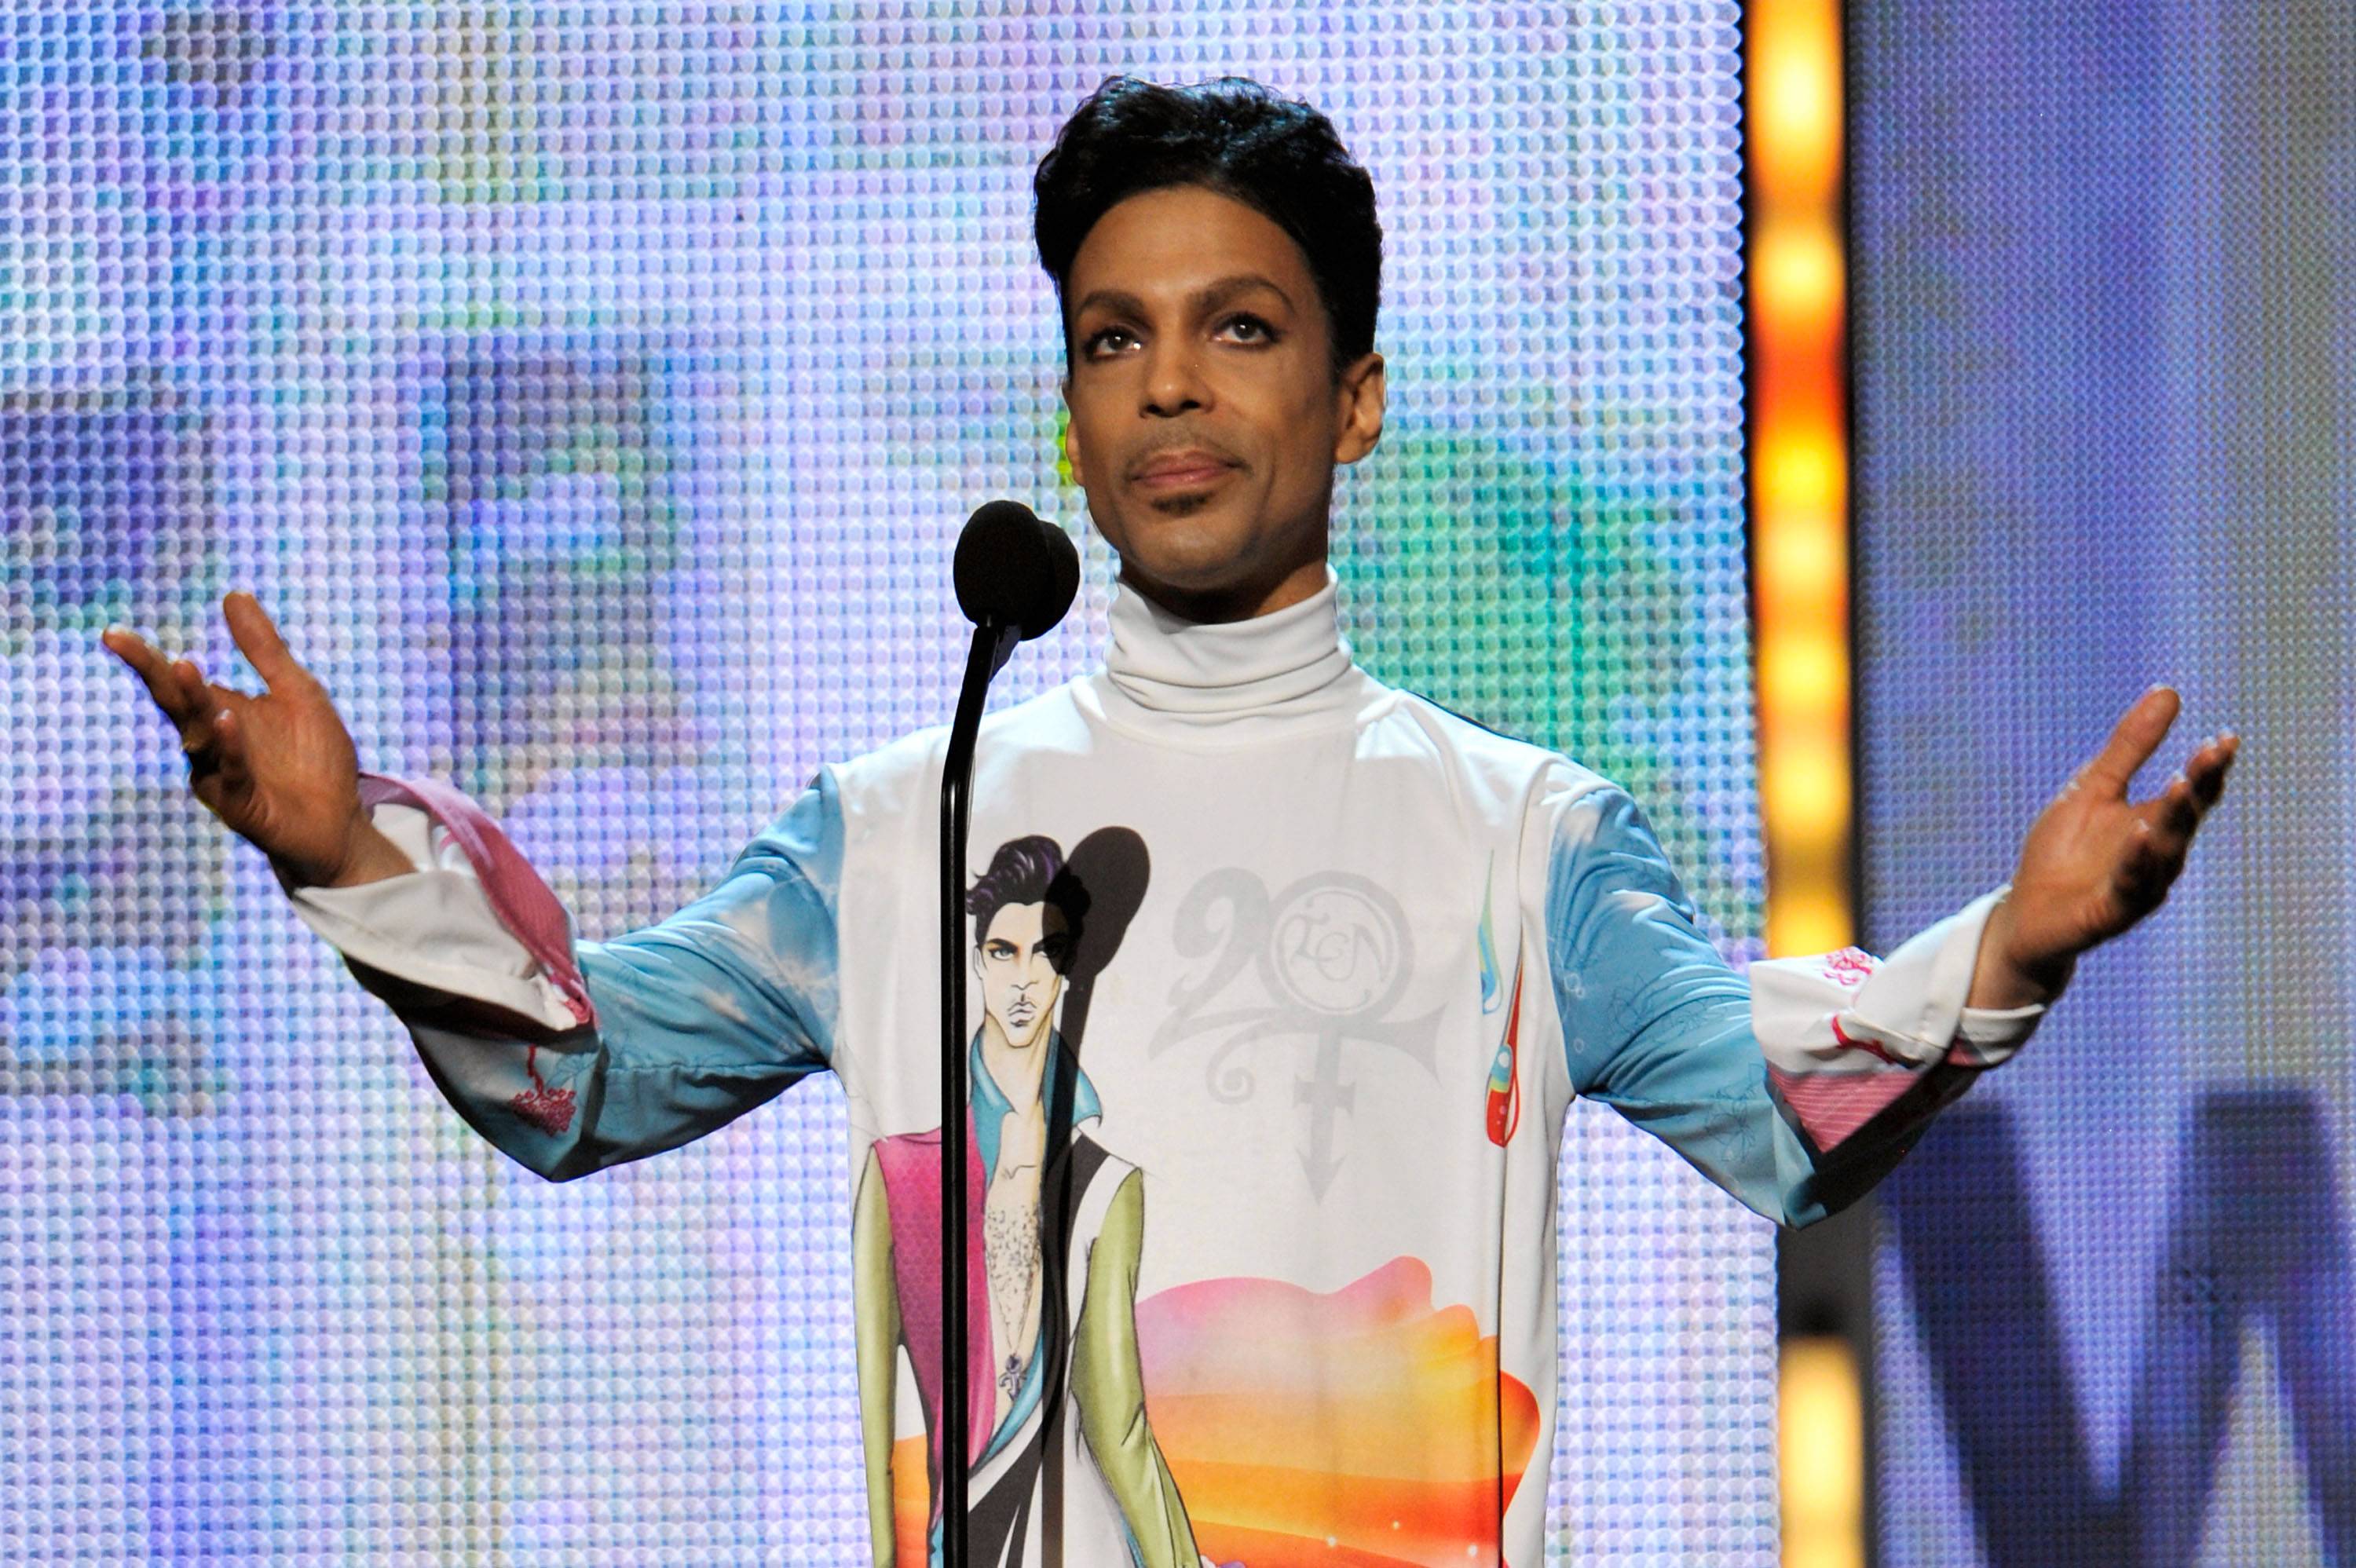
[[[968,1471],[975,1417],[971,1349],[973,1293],[966,1236],[978,1194],[966,1161],[966,822],[973,789],[973,739],[982,699],[1015,643],[1048,633],[1079,593],[1079,551],[1053,523],[1020,501],[985,501],[966,518],[952,563],[957,607],[973,622],[966,678],[957,690],[949,749],[940,768],[940,1427],[933,1474],[940,1483],[942,1568],[966,1568]],[[987,1182],[987,1172],[982,1175]],[[987,1311],[987,1302],[980,1304]],[[997,1394],[982,1387],[982,1422]]]

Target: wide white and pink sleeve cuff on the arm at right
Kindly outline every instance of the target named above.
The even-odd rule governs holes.
[[[2043,1005],[1965,1008],[1996,888],[1904,942],[1890,958],[1847,946],[1751,965],[1751,1026],[1767,1076],[1809,1140],[1828,1149],[1937,1062],[1996,1067],[2031,1036]]]

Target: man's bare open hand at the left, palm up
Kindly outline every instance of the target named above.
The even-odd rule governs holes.
[[[188,789],[297,885],[349,888],[412,871],[360,805],[360,763],[327,690],[294,662],[262,603],[221,598],[229,636],[269,687],[262,697],[205,680],[193,659],[165,659],[125,626],[99,638],[146,680],[188,753]]]

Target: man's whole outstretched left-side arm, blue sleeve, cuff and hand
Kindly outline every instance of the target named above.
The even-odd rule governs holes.
[[[179,730],[188,789],[391,1003],[457,1111],[544,1177],[688,1142],[827,1067],[832,784],[655,928],[577,942],[499,826],[431,779],[363,772],[327,690],[252,593],[221,600],[266,690],[205,680],[127,629],[106,647]]]

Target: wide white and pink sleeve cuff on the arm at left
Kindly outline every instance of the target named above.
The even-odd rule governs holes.
[[[415,871],[351,888],[280,873],[304,925],[410,984],[558,1031],[596,1022],[573,961],[570,913],[478,805],[431,779],[370,772],[360,800]]]

